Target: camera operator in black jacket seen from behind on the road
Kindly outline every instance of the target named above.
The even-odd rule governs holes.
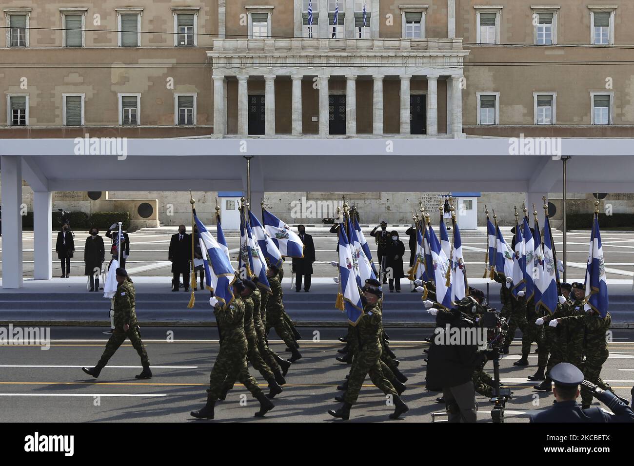
[[[434,314],[434,308],[429,309]],[[476,422],[477,405],[473,376],[475,369],[486,361],[478,352],[477,342],[465,340],[469,332],[458,332],[458,341],[444,339],[443,332],[452,328],[473,328],[473,320],[465,318],[460,309],[436,312],[434,344],[429,348],[427,385],[442,387],[449,422]]]

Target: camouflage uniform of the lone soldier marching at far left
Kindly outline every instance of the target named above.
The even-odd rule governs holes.
[[[150,359],[148,359],[145,345],[143,341],[141,341],[139,323],[136,320],[136,312],[134,311],[136,304],[135,295],[134,284],[130,278],[126,278],[123,283],[117,285],[117,291],[114,296],[115,328],[112,330],[112,335],[110,335],[110,339],[108,339],[106,349],[103,351],[97,366],[103,367],[107,365],[108,360],[112,358],[113,354],[119,349],[119,346],[121,346],[126,338],[129,338],[132,346],[141,357],[141,365],[143,365],[144,368],[150,367]],[[130,326],[127,332],[123,328],[126,323]]]

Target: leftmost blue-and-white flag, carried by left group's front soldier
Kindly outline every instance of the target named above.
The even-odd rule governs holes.
[[[223,245],[217,242],[216,238],[209,233],[197,215],[194,215],[194,221],[198,226],[198,235],[200,235],[202,240],[202,250],[207,251],[207,256],[209,256],[208,259],[203,259],[204,262],[207,262],[205,266],[207,287],[211,288],[219,302],[224,305],[230,304],[233,301],[232,285],[235,282],[235,271],[231,266],[229,256],[223,249]],[[218,222],[218,228],[222,232],[220,222]],[[224,248],[226,248],[226,244]]]

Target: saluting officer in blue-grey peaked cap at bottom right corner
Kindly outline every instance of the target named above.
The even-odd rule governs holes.
[[[531,416],[531,422],[634,422],[634,411],[612,392],[583,380],[583,373],[570,363],[559,363],[550,371],[555,382],[557,403],[547,410]],[[614,414],[605,413],[598,406],[584,410],[578,405],[579,384],[592,392]]]

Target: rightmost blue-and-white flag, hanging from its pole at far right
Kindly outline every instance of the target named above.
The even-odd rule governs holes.
[[[595,215],[592,224],[585,285],[586,293],[588,293],[588,295],[586,295],[586,301],[588,301],[592,309],[598,311],[602,318],[605,318],[609,299],[607,295],[607,282],[605,281],[603,245],[601,243],[601,232],[598,228],[597,215]]]

